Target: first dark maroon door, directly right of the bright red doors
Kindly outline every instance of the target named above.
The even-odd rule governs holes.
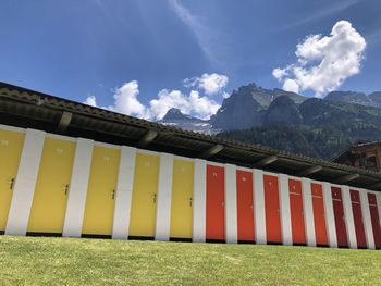
[[[336,187],[331,188],[334,222],[336,226],[336,237],[339,247],[348,247],[348,239],[346,236],[345,216],[343,209],[342,190]]]

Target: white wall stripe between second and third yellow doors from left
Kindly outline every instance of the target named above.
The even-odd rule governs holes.
[[[93,140],[77,139],[62,236],[81,237],[93,147]]]

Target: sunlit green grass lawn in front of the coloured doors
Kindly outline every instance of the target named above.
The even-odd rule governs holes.
[[[0,237],[0,285],[381,285],[381,251]]]

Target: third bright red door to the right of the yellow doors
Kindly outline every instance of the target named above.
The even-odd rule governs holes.
[[[263,176],[267,241],[282,244],[278,177]]]

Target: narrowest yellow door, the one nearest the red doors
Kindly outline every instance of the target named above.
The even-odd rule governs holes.
[[[192,238],[194,163],[174,160],[171,203],[171,237]]]

